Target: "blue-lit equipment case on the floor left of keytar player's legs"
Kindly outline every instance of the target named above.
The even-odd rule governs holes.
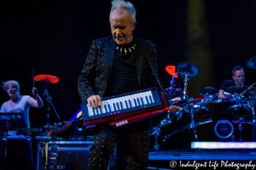
[[[37,169],[44,170],[44,142],[38,142]],[[93,141],[50,141],[48,169],[86,170]]]

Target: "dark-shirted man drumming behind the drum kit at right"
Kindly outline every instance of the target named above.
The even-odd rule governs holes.
[[[224,90],[226,88],[236,86],[236,87],[241,88],[242,89],[241,91],[244,91],[248,88],[247,85],[244,84],[245,75],[244,75],[244,70],[241,66],[235,66],[232,69],[232,79],[233,80],[224,81],[224,83],[222,84],[221,88],[218,91],[218,98],[226,98],[223,94]],[[231,105],[236,105],[236,102],[228,102],[228,103],[224,102],[223,103],[222,111],[221,111],[221,115],[220,115],[221,120],[230,119],[230,116],[228,115],[228,113],[229,113],[228,109]]]

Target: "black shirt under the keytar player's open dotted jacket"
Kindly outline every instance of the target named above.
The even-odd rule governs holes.
[[[131,93],[139,90],[137,82],[136,39],[117,46],[113,59],[113,69],[104,97]]]

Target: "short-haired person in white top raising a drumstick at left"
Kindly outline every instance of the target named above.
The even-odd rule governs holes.
[[[20,85],[18,82],[14,80],[10,80],[7,82],[3,82],[3,91],[6,92],[9,95],[9,100],[3,103],[0,110],[0,116],[2,113],[17,113],[17,112],[23,112],[24,113],[24,119],[26,122],[26,127],[30,128],[30,122],[29,122],[29,107],[35,107],[35,108],[42,108],[44,107],[43,100],[38,95],[38,89],[32,88],[32,94],[35,96],[36,99],[33,99],[32,97],[28,95],[20,95]],[[0,132],[0,135],[3,132]],[[8,141],[8,150],[13,150],[13,148],[19,148],[18,153],[20,154],[19,162],[23,162],[24,166],[27,170],[35,170],[36,166],[33,161],[32,157],[32,144],[29,140],[9,140]],[[4,160],[4,150],[5,150],[5,142],[0,140],[0,169],[9,169],[10,166],[9,163],[13,162],[12,156],[7,156],[8,163],[6,160]],[[9,151],[7,152],[9,153]],[[11,152],[12,153],[12,152]],[[19,164],[19,163],[18,163]],[[19,166],[19,165],[15,166]],[[6,166],[4,168],[3,166]]]

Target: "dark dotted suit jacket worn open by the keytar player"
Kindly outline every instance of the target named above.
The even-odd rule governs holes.
[[[111,36],[93,40],[83,70],[79,75],[78,90],[82,101],[96,94],[104,97],[113,67],[115,48],[116,42]],[[161,86],[157,74],[155,44],[136,37],[136,53],[139,89],[160,87],[165,92],[166,98],[170,99],[165,88]]]

